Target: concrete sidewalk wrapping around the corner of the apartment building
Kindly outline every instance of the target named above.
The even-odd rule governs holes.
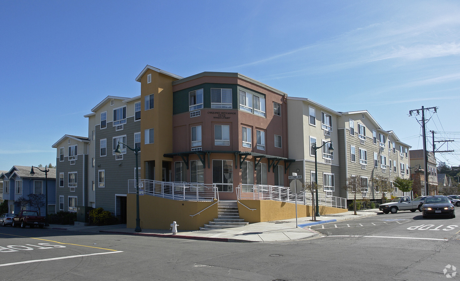
[[[316,218],[316,222],[312,222],[311,217],[298,218],[297,223],[299,227],[297,228],[295,227],[295,218],[215,230],[180,230],[179,223],[178,233],[175,235],[171,234],[171,230],[165,229],[142,229],[141,232],[135,232],[132,228],[126,228],[126,224],[106,226],[50,224],[48,228],[93,233],[138,235],[221,242],[275,242],[291,241],[320,236],[321,234],[319,232],[311,230],[309,227],[316,224],[326,224],[353,218],[374,216],[378,211],[378,209],[357,211],[356,216],[353,214],[353,211],[329,214]]]

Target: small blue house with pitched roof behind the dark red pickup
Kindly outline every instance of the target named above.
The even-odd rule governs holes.
[[[31,166],[13,166],[8,172],[2,172],[0,179],[3,180],[3,200],[8,201],[8,212],[18,213],[21,206],[15,203],[20,197],[29,199],[29,194],[46,194],[48,197],[48,213],[56,212],[56,169],[49,168],[46,182],[45,172],[34,168],[34,174],[30,173]],[[40,168],[45,170],[45,168]],[[34,209],[26,206],[25,209]],[[38,210],[37,210],[38,211]],[[45,208],[40,208],[40,215],[45,215]]]

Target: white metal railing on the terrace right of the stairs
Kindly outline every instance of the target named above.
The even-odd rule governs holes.
[[[262,184],[240,184],[236,188],[238,200],[274,200],[295,202],[303,205],[316,203],[314,195],[301,191],[297,196],[288,187],[262,185]],[[346,199],[337,196],[318,194],[318,205],[346,209]]]

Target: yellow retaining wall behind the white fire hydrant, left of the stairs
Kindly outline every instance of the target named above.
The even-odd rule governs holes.
[[[217,202],[178,201],[151,195],[139,196],[139,218],[142,229],[169,229],[176,221],[180,230],[198,230],[217,218]],[[214,205],[213,205],[214,204]],[[213,206],[211,206],[213,205]],[[190,217],[197,212],[205,211]],[[136,195],[127,195],[127,228],[136,227]]]

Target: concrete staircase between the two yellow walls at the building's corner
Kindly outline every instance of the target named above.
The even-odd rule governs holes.
[[[237,201],[219,201],[217,210],[217,218],[200,227],[200,230],[224,229],[249,224],[240,218]]]

